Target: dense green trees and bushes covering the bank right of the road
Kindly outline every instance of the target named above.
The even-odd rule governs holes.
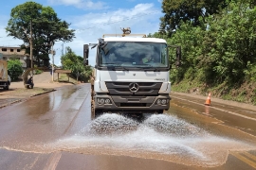
[[[255,1],[200,2],[163,1],[160,31],[149,35],[182,48],[172,90],[256,105]],[[174,63],[174,49],[169,52]]]

